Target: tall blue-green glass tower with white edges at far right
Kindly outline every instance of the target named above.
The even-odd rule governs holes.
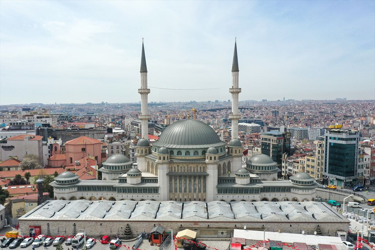
[[[344,187],[356,183],[359,131],[326,129],[324,134],[324,182]]]

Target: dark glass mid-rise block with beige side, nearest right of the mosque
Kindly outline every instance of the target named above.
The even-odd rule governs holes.
[[[290,133],[282,131],[263,132],[261,138],[262,154],[267,154],[281,169],[282,154],[290,154]]]

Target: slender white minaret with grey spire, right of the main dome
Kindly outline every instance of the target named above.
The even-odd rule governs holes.
[[[238,87],[238,58],[237,58],[237,41],[234,42],[234,54],[232,65],[232,87],[229,88],[229,93],[232,94],[232,114],[229,119],[232,120],[232,139],[238,138],[238,120],[241,116],[238,114],[238,94],[241,93],[241,88]]]

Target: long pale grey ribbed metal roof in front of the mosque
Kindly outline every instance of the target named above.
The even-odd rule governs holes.
[[[19,220],[349,223],[327,204],[314,201],[54,200],[44,202]]]

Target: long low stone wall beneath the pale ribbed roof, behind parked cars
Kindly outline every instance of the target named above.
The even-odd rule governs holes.
[[[197,237],[223,237],[228,238],[234,229],[242,229],[246,225],[248,229],[266,229],[267,231],[300,234],[302,230],[305,234],[313,235],[317,225],[320,225],[323,235],[336,236],[336,231],[348,231],[348,222],[213,222],[210,220],[204,222],[189,221],[74,221],[74,220],[19,220],[21,235],[28,235],[29,226],[41,226],[42,234],[47,234],[47,227],[51,235],[73,235],[78,233],[79,229],[86,229],[89,237],[98,237],[101,235],[121,235],[124,233],[126,224],[129,223],[133,235],[141,232],[150,232],[154,225],[160,225],[164,228],[172,228],[173,232],[183,229],[191,229],[197,232]],[[48,225],[49,223],[49,225]],[[223,234],[221,234],[223,232]]]

